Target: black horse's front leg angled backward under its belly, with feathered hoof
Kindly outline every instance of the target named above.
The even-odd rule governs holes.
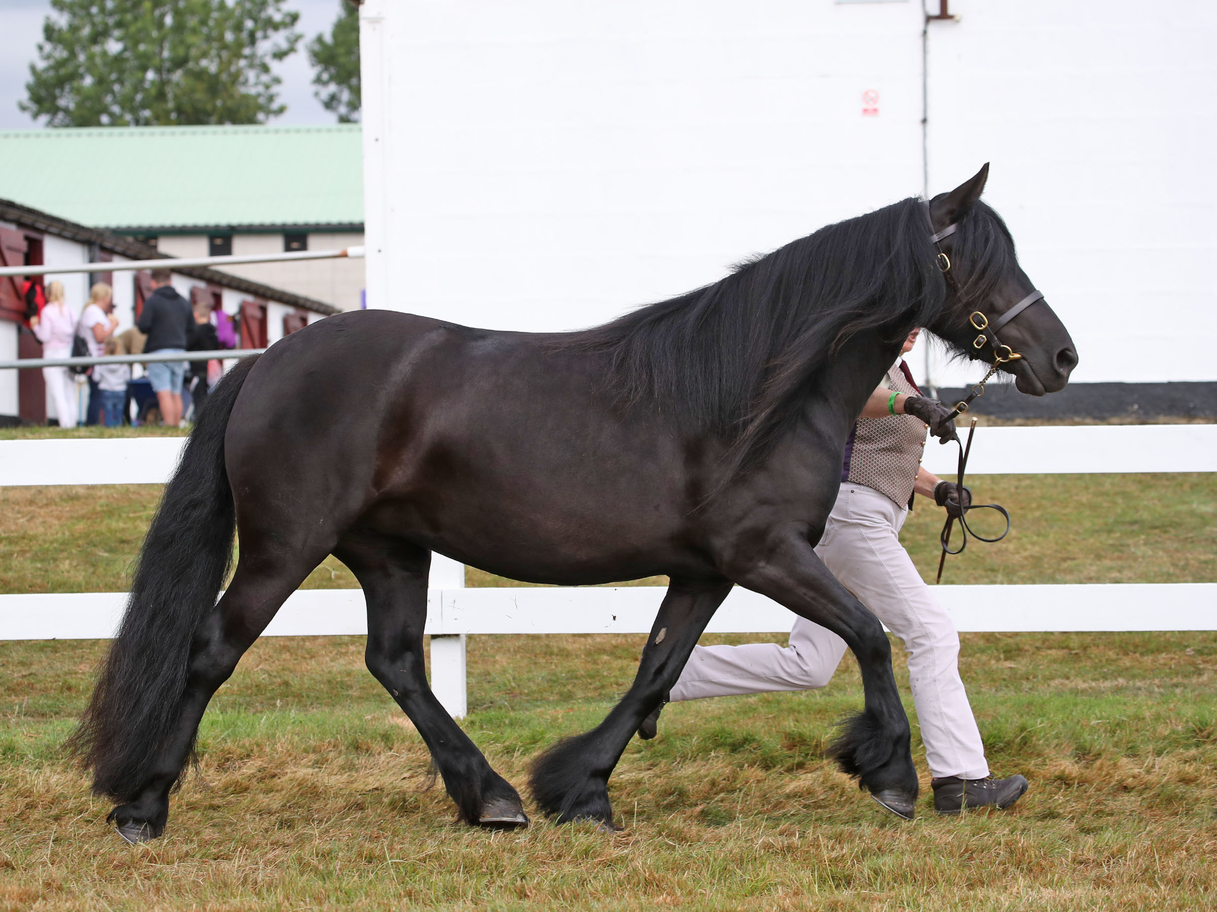
[[[532,769],[532,793],[559,823],[594,821],[613,828],[608,777],[647,714],[680,676],[697,637],[731,591],[730,582],[672,580],[629,692],[590,732],[560,741]]]

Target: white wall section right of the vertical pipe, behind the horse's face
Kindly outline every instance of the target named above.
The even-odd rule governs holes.
[[[1217,379],[1217,5],[950,10],[929,33],[931,187],[993,161],[988,201],[1077,343],[1075,379]]]

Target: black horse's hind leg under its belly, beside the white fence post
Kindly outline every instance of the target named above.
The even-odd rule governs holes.
[[[520,795],[490,769],[427,685],[422,631],[431,552],[400,540],[352,535],[335,554],[364,587],[368,670],[419,730],[461,820],[493,828],[527,826]]]

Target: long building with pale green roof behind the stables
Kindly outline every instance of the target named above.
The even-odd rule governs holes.
[[[170,257],[343,249],[364,242],[358,124],[105,126],[0,133],[0,198]],[[340,310],[358,259],[224,266]]]

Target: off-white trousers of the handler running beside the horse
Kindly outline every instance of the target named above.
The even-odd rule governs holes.
[[[901,546],[907,514],[871,488],[842,484],[815,553],[903,641],[930,773],[983,778],[988,764],[959,677],[959,635]],[[695,647],[671,699],[824,687],[845,651],[836,634],[798,618],[786,648]]]

